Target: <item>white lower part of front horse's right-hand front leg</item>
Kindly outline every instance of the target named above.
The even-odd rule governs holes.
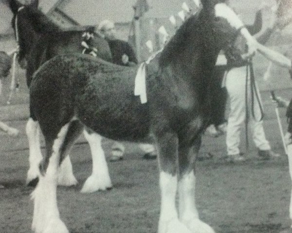
[[[180,220],[192,233],[214,233],[214,230],[208,224],[199,219],[195,202],[195,184],[194,171],[183,175],[180,180]]]

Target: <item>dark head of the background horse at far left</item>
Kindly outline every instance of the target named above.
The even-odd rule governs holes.
[[[12,27],[19,45],[19,64],[24,64],[24,60],[37,36],[33,27],[32,12],[37,11],[38,0],[33,0],[29,5],[21,5],[17,0],[9,0],[9,6],[13,13]]]

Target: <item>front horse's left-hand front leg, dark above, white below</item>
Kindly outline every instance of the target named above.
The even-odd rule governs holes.
[[[161,211],[158,233],[191,233],[178,218],[175,197],[178,185],[178,138],[174,133],[156,137],[159,151]]]

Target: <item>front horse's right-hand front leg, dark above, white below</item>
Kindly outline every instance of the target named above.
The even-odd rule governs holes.
[[[214,233],[209,225],[199,219],[195,202],[195,160],[200,146],[201,137],[192,145],[182,143],[179,147],[179,214],[180,220],[192,233]]]

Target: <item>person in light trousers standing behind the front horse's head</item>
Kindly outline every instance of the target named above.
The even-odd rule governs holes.
[[[263,8],[267,9],[267,8]],[[259,43],[266,43],[270,35],[275,29],[275,14],[272,16],[270,25],[258,33],[256,39]],[[248,28],[251,34],[257,33],[255,28]],[[241,43],[237,40],[237,43]],[[243,44],[243,43],[241,43]],[[226,146],[227,155],[230,162],[244,162],[246,158],[242,156],[239,150],[240,144],[240,132],[244,121],[246,120],[246,111],[248,111],[248,120],[253,131],[253,141],[258,150],[258,158],[261,160],[268,160],[278,157],[279,154],[274,153],[271,150],[270,143],[267,141],[263,121],[261,118],[261,100],[256,86],[256,92],[258,93],[258,101],[256,98],[256,92],[251,92],[251,73],[247,70],[248,60],[254,54],[239,54],[236,56],[237,51],[232,51],[230,54],[225,54],[227,59],[228,72],[225,80],[225,87],[230,98],[230,113],[228,116],[228,124],[226,131]],[[246,80],[246,73],[249,72]],[[255,84],[256,85],[256,84]],[[247,91],[247,102],[245,101]],[[254,105],[252,104],[254,99]],[[246,105],[247,104],[247,105]],[[246,109],[247,106],[247,109]],[[252,116],[254,112],[254,116]],[[255,119],[256,118],[256,119]]]

